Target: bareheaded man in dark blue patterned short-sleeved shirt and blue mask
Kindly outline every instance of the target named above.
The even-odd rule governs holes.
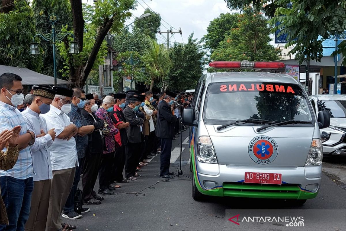
[[[70,117],[71,122],[74,123],[76,127],[78,128],[78,134],[76,134],[74,138],[76,140],[76,149],[77,149],[79,166],[76,167],[73,186],[72,186],[70,195],[67,198],[67,201],[64,207],[64,213],[62,215],[64,218],[68,218],[68,219],[74,219],[76,215],[75,213],[81,214],[81,213],[86,213],[90,211],[90,208],[82,208],[82,211],[75,211],[74,195],[77,192],[78,183],[80,180],[81,165],[84,160],[85,149],[88,146],[88,134],[92,133],[95,128],[94,125],[88,125],[84,116],[81,113],[81,109],[83,109],[85,105],[84,90],[78,87],[72,88],[72,90],[73,90],[73,95],[72,95],[71,111],[67,115]]]

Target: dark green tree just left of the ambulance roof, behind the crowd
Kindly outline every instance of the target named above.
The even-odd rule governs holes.
[[[169,88],[184,91],[194,89],[198,79],[203,73],[203,56],[201,46],[197,39],[189,36],[188,43],[175,43],[169,50],[169,56],[173,66],[168,73],[170,79]]]

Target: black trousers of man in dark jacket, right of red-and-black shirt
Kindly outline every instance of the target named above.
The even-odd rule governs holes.
[[[136,168],[142,154],[141,145],[142,143],[127,143],[126,145],[125,177],[127,179],[136,174]]]

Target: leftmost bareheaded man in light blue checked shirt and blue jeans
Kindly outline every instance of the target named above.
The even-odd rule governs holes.
[[[22,79],[13,73],[0,75],[0,133],[21,126],[18,138],[19,158],[15,166],[7,171],[0,170],[1,196],[5,202],[8,225],[0,225],[0,230],[23,230],[33,191],[33,160],[29,145],[35,141],[35,133],[30,131],[17,106],[23,103]],[[6,153],[6,148],[2,151]]]

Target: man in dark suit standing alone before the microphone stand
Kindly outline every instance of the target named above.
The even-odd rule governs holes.
[[[157,122],[156,122],[156,136],[161,138],[161,156],[160,156],[160,177],[171,178],[174,172],[169,172],[172,140],[174,138],[174,124],[177,121],[177,117],[173,115],[171,107],[174,102],[171,97],[174,98],[173,92],[167,91],[166,96],[158,105]]]

